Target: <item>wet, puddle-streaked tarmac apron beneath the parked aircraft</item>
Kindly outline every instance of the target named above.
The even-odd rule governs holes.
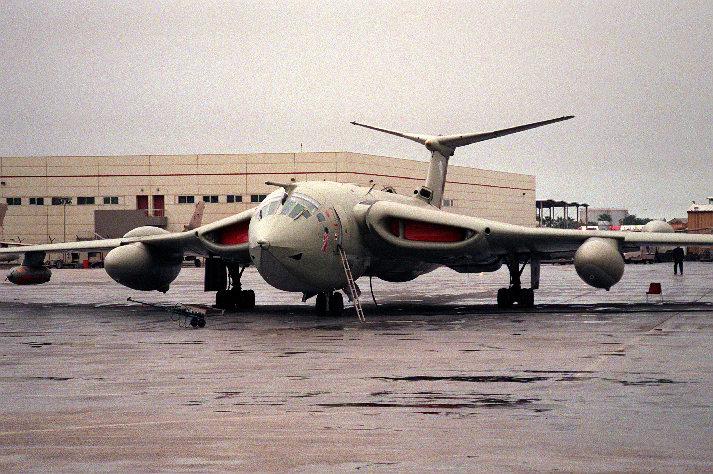
[[[126,301],[210,304],[200,268],[1,282],[0,472],[711,473],[713,264],[670,266],[610,292],[543,266],[508,311],[504,271],[374,280],[379,308],[362,278],[366,323],[248,269],[255,310],[202,329]]]

